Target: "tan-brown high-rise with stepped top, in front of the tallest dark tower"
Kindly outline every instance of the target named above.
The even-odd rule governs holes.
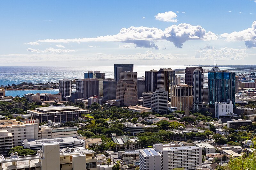
[[[132,79],[120,79],[116,85],[116,99],[123,106],[134,106],[137,104],[137,84]]]

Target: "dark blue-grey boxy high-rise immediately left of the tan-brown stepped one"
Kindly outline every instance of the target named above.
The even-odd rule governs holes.
[[[116,99],[116,80],[108,78],[103,81],[103,101]]]

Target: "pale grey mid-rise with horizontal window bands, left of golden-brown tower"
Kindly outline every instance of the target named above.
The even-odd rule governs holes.
[[[151,108],[153,112],[161,115],[167,114],[168,110],[168,92],[164,89],[157,89],[151,95]]]

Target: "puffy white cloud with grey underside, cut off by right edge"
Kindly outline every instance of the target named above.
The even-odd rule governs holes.
[[[221,34],[227,41],[244,41],[247,48],[256,47],[256,21],[252,27],[239,32]]]

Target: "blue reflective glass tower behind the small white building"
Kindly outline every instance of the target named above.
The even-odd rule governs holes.
[[[235,107],[235,85],[236,72],[228,70],[220,70],[218,67],[213,67],[208,71],[208,88],[209,88],[209,104],[214,107],[215,102],[232,101]]]

